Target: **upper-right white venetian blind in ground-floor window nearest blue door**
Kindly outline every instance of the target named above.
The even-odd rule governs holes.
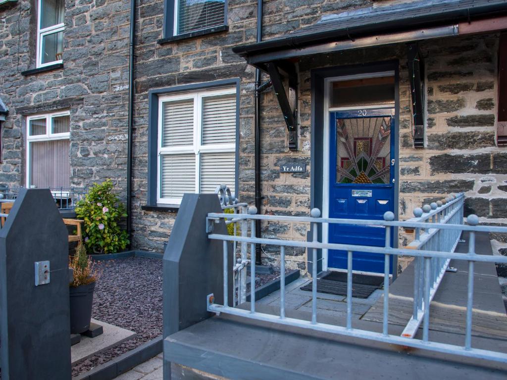
[[[202,99],[202,144],[234,144],[236,95]]]

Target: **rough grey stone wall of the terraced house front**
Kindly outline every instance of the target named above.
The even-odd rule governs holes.
[[[322,16],[369,7],[400,5],[401,1],[266,0],[263,40],[282,37],[314,25]],[[126,199],[128,30],[130,2],[77,0],[65,2],[63,68],[22,74],[34,67],[33,0],[0,5],[0,97],[9,107],[2,129],[0,184],[26,182],[26,117],[70,111],[70,182],[88,186],[113,178]],[[257,2],[229,0],[228,30],[167,39],[167,3],[139,0],[136,8],[135,96],[133,123],[132,245],[162,251],[177,207],[150,200],[150,99],[153,91],[216,81],[239,81],[237,189],[241,201],[254,202],[255,69],[232,51],[256,42]],[[35,27],[36,28],[36,27]],[[36,34],[36,33],[35,33]],[[497,145],[498,59],[500,31],[446,36],[420,42],[424,56],[425,146],[414,148],[406,42],[320,53],[297,59],[298,149],[289,150],[287,129],[272,89],[261,95],[261,212],[308,215],[311,200],[312,71],[325,67],[397,62],[399,138],[395,166],[400,219],[449,193],[464,192],[466,210],[482,222],[507,220],[507,150]],[[263,73],[263,80],[269,80]],[[183,87],[182,87],[183,86]],[[191,91],[190,88],[188,91]],[[164,92],[162,91],[161,94]],[[303,173],[280,173],[284,162],[306,164]],[[152,170],[153,172],[153,170]],[[153,173],[152,173],[153,174]],[[151,182],[151,183],[150,183]],[[262,235],[305,240],[308,225],[266,223]],[[410,235],[400,232],[405,245]],[[270,247],[269,256],[276,257]],[[306,252],[288,252],[288,267],[306,270]],[[270,260],[265,256],[266,260]],[[402,265],[403,267],[403,265]]]

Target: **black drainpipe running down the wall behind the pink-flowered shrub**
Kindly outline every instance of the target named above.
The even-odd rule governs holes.
[[[134,127],[134,32],[135,0],[130,0],[130,50],[128,79],[128,141],[127,141],[127,233],[132,242],[132,130]],[[129,243],[129,249],[132,243]]]

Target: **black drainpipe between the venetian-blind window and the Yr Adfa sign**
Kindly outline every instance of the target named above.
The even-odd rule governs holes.
[[[262,41],[262,0],[257,0],[257,42]],[[255,69],[255,207],[257,212],[261,214],[261,70]],[[256,237],[261,237],[261,221],[255,221]],[[257,265],[262,265],[261,245],[256,244],[256,260]]]

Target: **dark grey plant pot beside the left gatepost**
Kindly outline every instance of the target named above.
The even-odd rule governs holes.
[[[70,287],[70,333],[81,334],[90,328],[95,282]]]

